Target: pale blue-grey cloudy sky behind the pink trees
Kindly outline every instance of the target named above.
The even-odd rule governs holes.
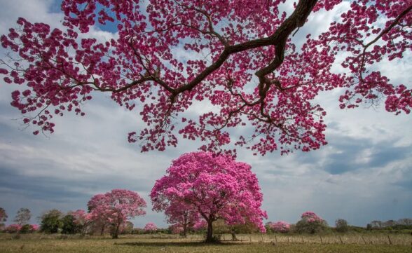
[[[53,0],[0,0],[0,6],[0,34],[20,16],[56,26],[62,19]],[[311,17],[297,36],[320,32],[335,15]],[[90,33],[100,40],[115,36],[97,27]],[[0,54],[4,57],[5,51]],[[380,69],[393,83],[410,87],[411,60],[408,54],[402,62],[383,62]],[[177,149],[140,153],[139,146],[127,142],[128,132],[142,128],[139,117],[118,107],[108,94],[96,94],[88,102],[87,116],[55,118],[53,135],[34,136],[22,130],[21,115],[10,106],[13,89],[0,81],[0,207],[8,213],[8,224],[20,207],[32,210],[32,223],[37,223],[45,210],[85,209],[91,196],[115,188],[137,191],[149,201],[151,187],[171,160],[199,146],[182,140]],[[412,217],[411,116],[394,116],[383,106],[341,110],[340,93],[317,99],[328,112],[329,144],[319,151],[261,157],[238,150],[238,160],[251,164],[259,178],[268,221],[295,223],[307,210],[329,224],[337,218],[366,226],[375,219]],[[135,226],[149,221],[166,226],[163,214],[152,212],[150,204],[146,211],[133,220]]]

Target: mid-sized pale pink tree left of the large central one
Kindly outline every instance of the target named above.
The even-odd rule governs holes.
[[[111,226],[112,238],[118,238],[119,228],[128,219],[144,215],[146,201],[135,191],[114,189],[93,196],[88,202],[90,220],[104,227]]]

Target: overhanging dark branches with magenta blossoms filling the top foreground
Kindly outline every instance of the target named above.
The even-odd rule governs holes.
[[[84,116],[95,92],[109,93],[146,123],[128,135],[142,151],[176,146],[177,134],[202,140],[204,151],[233,153],[229,143],[262,155],[320,149],[327,113],[314,100],[336,88],[342,109],[382,100],[387,111],[409,114],[411,87],[379,68],[411,51],[411,0],[298,0],[288,2],[289,13],[280,10],[284,2],[62,0],[64,29],[19,18],[1,36],[14,54],[0,74],[25,84],[11,105],[35,135],[53,132],[55,116]],[[323,33],[302,34],[309,17],[335,9]],[[90,37],[97,22],[116,25],[116,39]],[[177,46],[191,59],[181,60]],[[189,117],[196,102],[216,108]]]

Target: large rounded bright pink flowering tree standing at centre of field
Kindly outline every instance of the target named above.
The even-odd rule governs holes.
[[[166,175],[156,181],[150,193],[153,210],[181,208],[198,213],[207,223],[206,241],[212,242],[213,222],[223,219],[226,224],[255,224],[265,231],[261,210],[263,196],[250,165],[229,156],[193,152],[173,160]]]

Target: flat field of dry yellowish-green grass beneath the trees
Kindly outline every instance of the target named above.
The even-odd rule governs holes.
[[[200,241],[199,235],[189,238],[124,235],[116,240],[41,234],[21,235],[19,239],[13,239],[13,235],[1,235],[0,252],[412,252],[411,235],[390,235],[392,245],[387,235],[386,240],[385,235],[363,235],[366,244],[362,238],[355,240],[360,235],[344,235],[341,236],[342,241],[336,241],[337,236],[323,235],[320,242],[320,237],[315,235],[238,235],[242,241],[231,242],[228,240],[230,235],[223,235],[224,240],[220,244],[206,245]]]

